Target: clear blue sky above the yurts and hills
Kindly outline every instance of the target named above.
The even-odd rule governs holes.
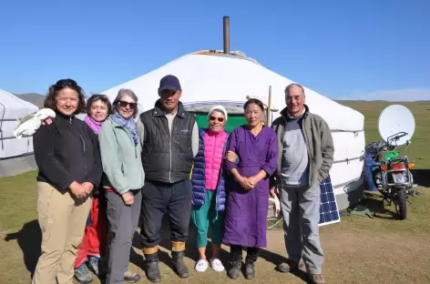
[[[149,3],[150,2],[150,3]],[[430,99],[430,1],[2,1],[0,88],[100,92],[200,49],[230,49],[333,98]]]

